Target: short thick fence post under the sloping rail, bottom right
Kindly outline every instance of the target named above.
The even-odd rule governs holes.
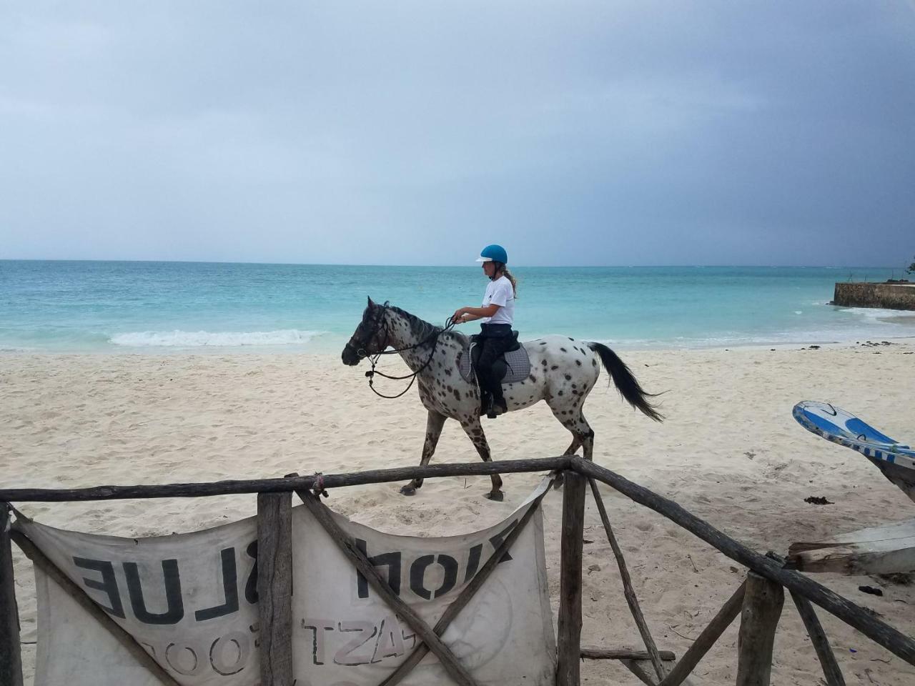
[[[737,634],[737,686],[769,686],[772,644],[785,592],[758,573],[747,574],[747,591]]]

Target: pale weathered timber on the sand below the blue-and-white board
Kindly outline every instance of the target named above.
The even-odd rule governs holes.
[[[911,572],[915,570],[915,520],[791,543],[788,565],[802,572]]]

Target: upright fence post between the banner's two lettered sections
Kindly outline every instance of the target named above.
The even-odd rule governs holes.
[[[292,493],[257,494],[261,683],[292,686]]]

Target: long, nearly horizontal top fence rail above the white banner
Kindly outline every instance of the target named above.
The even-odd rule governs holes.
[[[567,469],[569,456],[541,457],[530,460],[497,462],[462,462],[456,464],[404,466],[396,469],[371,469],[351,474],[322,476],[324,488],[364,486],[408,478],[471,477],[513,472],[552,472]],[[317,476],[262,478],[253,480],[214,481],[195,484],[161,484],[157,486],[97,486],[94,488],[3,488],[0,501],[70,502],[77,500],[123,500],[125,498],[198,498],[238,493],[285,493],[310,490]]]

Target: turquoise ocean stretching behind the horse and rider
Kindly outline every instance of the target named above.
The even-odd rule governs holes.
[[[915,336],[915,313],[829,305],[875,267],[514,267],[522,339],[728,348]],[[899,270],[896,270],[899,276]],[[0,351],[339,353],[366,296],[442,325],[478,265],[0,261]],[[464,327],[468,332],[477,325]]]

